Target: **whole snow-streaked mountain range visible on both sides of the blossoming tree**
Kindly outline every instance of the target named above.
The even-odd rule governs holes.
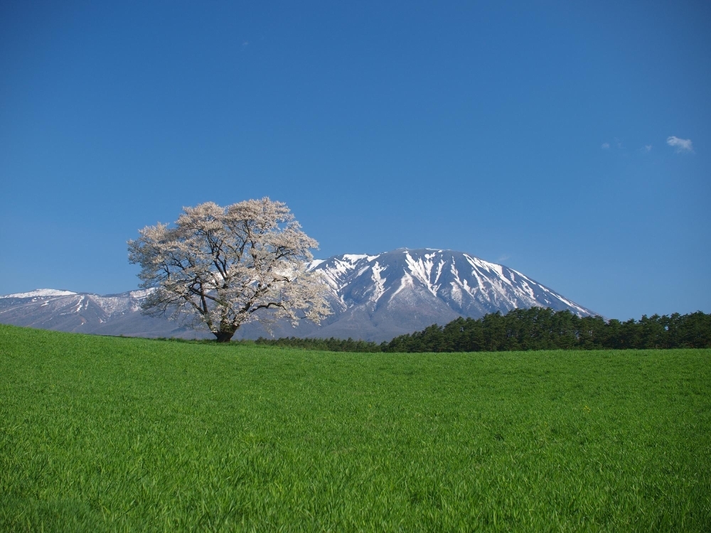
[[[479,318],[533,306],[567,309],[579,316],[592,314],[507,266],[451,250],[343,254],[315,260],[310,269],[324,275],[324,283],[331,289],[333,314],[319,326],[279,324],[273,330],[277,337],[390,340],[459,316]],[[141,315],[145,296],[146,291],[99,296],[53,289],[0,296],[0,323],[106,335],[210,337]],[[268,334],[259,323],[250,323],[240,328],[237,337]]]

